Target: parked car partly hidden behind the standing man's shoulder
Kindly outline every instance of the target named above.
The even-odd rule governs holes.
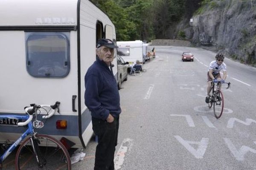
[[[122,57],[117,55],[118,90],[121,89],[122,82],[127,81],[127,79],[128,79],[128,71],[127,71],[128,64],[129,64],[129,62],[125,62],[125,60]]]

